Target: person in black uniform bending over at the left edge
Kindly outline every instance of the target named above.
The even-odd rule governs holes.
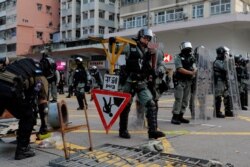
[[[41,83],[36,79],[41,77],[42,71],[32,59],[16,59],[9,65],[6,58],[0,60],[0,115],[7,109],[19,119],[15,160],[21,160],[35,156],[29,143],[38,104],[36,99],[41,90]]]

